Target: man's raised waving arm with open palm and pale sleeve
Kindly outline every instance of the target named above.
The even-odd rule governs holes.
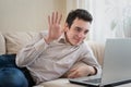
[[[33,42],[24,47],[16,55],[17,66],[29,65],[44,50],[46,50],[48,44],[60,37],[62,34],[62,29],[60,27],[61,17],[62,15],[59,15],[58,12],[53,12],[51,16],[48,16],[49,29],[47,37],[39,34]]]

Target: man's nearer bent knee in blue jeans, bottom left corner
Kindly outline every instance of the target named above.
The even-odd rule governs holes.
[[[15,67],[0,69],[0,87],[28,87],[24,74]]]

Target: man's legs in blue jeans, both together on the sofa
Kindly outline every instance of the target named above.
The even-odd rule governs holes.
[[[0,55],[0,87],[28,87],[26,77],[15,64],[15,54]]]

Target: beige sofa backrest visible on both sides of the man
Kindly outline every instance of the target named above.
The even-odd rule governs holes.
[[[28,41],[31,41],[32,38],[36,36],[36,34],[38,33],[15,32],[15,33],[4,33],[0,35],[0,54],[4,54],[4,53],[10,54],[10,53],[19,52],[19,50],[21,50]],[[104,45],[95,41],[87,41],[87,42],[91,46],[99,64],[103,64]]]

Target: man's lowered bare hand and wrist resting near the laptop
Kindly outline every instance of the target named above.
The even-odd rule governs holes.
[[[68,74],[68,78],[76,78],[88,75],[94,75],[96,73],[95,69],[90,65],[82,65],[74,69],[71,69]]]

